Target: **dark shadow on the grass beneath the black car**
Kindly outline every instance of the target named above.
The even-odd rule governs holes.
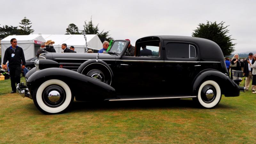
[[[230,106],[219,104],[215,109],[228,109]],[[146,110],[146,109],[202,109],[192,99],[138,100],[116,102],[80,102],[74,101],[72,111],[108,111],[108,110]]]

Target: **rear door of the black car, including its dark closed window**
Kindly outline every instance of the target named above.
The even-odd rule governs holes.
[[[164,49],[165,94],[192,95],[192,82],[201,71],[197,45],[165,40]]]

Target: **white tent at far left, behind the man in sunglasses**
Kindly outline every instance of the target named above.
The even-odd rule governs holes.
[[[1,41],[2,62],[5,50],[11,46],[12,38],[17,39],[17,45],[23,49],[26,60],[35,57],[40,44],[46,42],[41,35],[9,35]]]

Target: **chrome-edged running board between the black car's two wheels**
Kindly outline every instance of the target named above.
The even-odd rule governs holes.
[[[169,97],[147,97],[147,98],[120,98],[110,99],[108,101],[134,101],[134,100],[155,100],[155,99],[176,99],[176,98],[194,98],[197,96],[169,96]]]

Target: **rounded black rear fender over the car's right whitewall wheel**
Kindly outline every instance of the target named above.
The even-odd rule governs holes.
[[[198,95],[198,88],[206,80],[213,80],[220,86],[221,94],[225,96],[239,96],[240,90],[238,85],[227,75],[216,70],[206,70],[200,72],[193,81],[193,95]]]

